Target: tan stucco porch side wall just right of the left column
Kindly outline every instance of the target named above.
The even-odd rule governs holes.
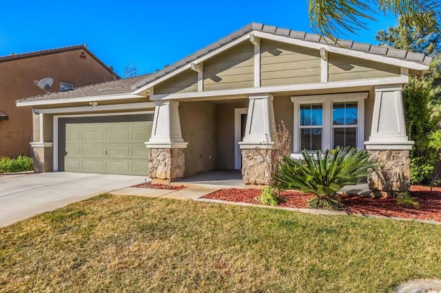
[[[188,142],[187,149],[184,149],[185,175],[217,169],[216,105],[212,102],[181,102],[179,117],[183,139]]]

